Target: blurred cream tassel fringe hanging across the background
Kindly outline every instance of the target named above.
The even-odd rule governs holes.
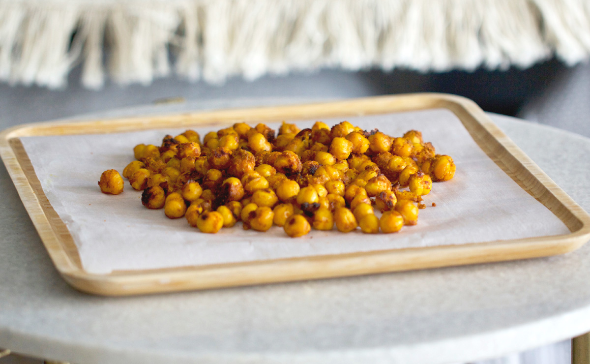
[[[0,80],[60,88],[149,84],[172,71],[529,67],[590,55],[588,0],[0,0]],[[171,61],[171,59],[173,61]]]

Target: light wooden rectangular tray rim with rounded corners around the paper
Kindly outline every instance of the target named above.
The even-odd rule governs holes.
[[[20,141],[25,136],[129,132],[195,124],[219,126],[236,122],[319,120],[438,108],[453,112],[477,145],[525,191],[563,221],[570,233],[462,245],[90,274],[83,269],[76,244],[45,196]],[[108,296],[246,286],[545,257],[573,251],[590,239],[590,216],[514,145],[473,101],[447,94],[408,94],[169,116],[25,124],[0,134],[0,155],[61,276],[81,291]]]

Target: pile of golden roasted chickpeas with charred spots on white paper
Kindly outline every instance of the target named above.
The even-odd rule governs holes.
[[[417,130],[391,137],[346,121],[303,130],[283,122],[278,135],[265,124],[236,123],[202,142],[186,130],[133,152],[123,177],[143,191],[142,204],[208,233],[237,221],[257,231],[277,225],[290,237],[334,225],[342,232],[397,232],[417,224],[432,182],[455,174],[453,159],[436,154]],[[123,184],[114,169],[99,182],[106,194],[120,194]]]

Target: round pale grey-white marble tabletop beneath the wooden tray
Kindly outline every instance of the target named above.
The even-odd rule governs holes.
[[[183,108],[195,105],[103,115]],[[590,139],[491,117],[590,211]],[[79,364],[442,364],[590,331],[590,244],[526,261],[97,297],[58,276],[4,165],[0,191],[0,347],[30,356]]]

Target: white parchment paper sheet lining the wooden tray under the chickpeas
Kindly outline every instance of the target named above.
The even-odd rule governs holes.
[[[323,120],[328,125],[343,119]],[[392,136],[410,129],[422,132],[437,153],[453,157],[457,172],[448,182],[434,183],[425,196],[418,225],[396,234],[365,235],[314,231],[289,238],[282,228],[244,231],[241,224],[215,235],[202,234],[185,219],[166,218],[149,210],[141,192],[126,182],[123,194],[100,192],[97,181],[106,169],[133,160],[133,146],[159,145],[166,134],[185,129],[132,133],[25,137],[35,173],[51,205],[65,222],[89,273],[230,263],[307,255],[465,244],[568,234],[566,226],[527,194],[477,146],[457,117],[444,109],[348,119],[366,130]],[[297,122],[311,127],[316,120]],[[278,123],[269,123],[278,130]],[[193,127],[204,136],[211,127]],[[218,128],[219,129],[219,128]],[[217,129],[216,129],[217,130]],[[431,207],[432,202],[437,204]]]

